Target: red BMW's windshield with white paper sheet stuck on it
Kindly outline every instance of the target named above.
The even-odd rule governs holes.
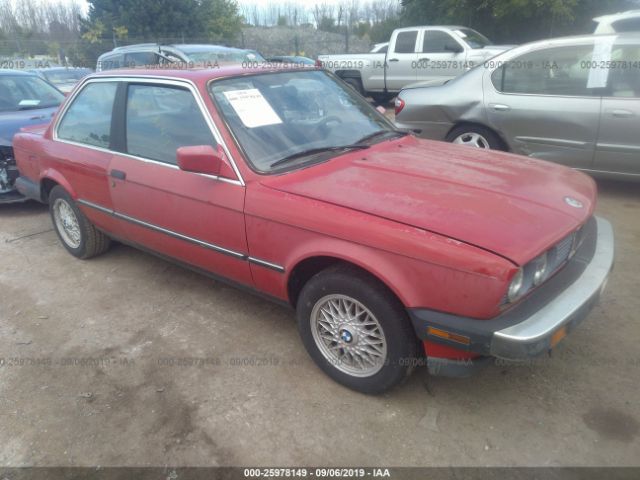
[[[260,172],[326,161],[399,134],[353,89],[321,70],[217,80],[209,90]]]

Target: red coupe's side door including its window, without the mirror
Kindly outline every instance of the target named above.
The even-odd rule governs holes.
[[[109,164],[115,215],[131,242],[251,285],[244,185],[178,167],[178,147],[216,148],[218,140],[198,93],[162,82],[123,82],[118,91],[117,152]]]

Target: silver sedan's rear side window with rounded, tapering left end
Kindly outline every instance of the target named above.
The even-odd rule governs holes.
[[[524,54],[493,72],[491,80],[503,93],[590,96],[588,88],[593,45],[556,47]]]

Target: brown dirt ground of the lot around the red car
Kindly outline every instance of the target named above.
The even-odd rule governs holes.
[[[640,186],[600,189],[616,269],[552,358],[381,397],[291,311],[120,245],[76,260],[46,207],[2,207],[0,465],[638,465]]]

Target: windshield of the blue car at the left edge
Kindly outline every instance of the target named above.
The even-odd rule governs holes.
[[[0,112],[57,107],[64,95],[35,75],[0,75]]]

